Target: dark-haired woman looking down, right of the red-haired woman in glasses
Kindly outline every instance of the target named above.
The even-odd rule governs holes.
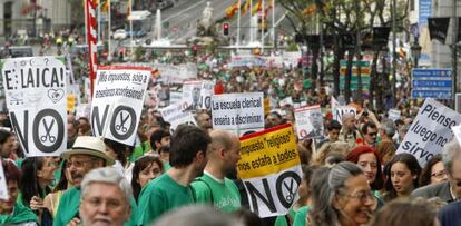
[[[414,156],[402,153],[392,157],[384,167],[384,174],[388,178],[384,200],[410,196],[418,188],[420,173],[421,167]]]

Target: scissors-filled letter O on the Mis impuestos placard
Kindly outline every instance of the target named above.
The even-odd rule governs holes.
[[[120,119],[119,124],[116,125],[117,117]],[[129,122],[129,128],[127,124]],[[128,139],[136,128],[136,112],[133,108],[128,106],[118,106],[112,114],[112,119],[110,120],[110,132],[116,139],[126,140]]]

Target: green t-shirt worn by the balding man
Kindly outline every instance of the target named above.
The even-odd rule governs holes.
[[[241,208],[241,194],[237,186],[228,178],[219,181],[205,174],[192,184],[197,203],[212,203],[225,213]]]

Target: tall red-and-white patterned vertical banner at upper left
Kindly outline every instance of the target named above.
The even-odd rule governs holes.
[[[87,29],[87,45],[88,45],[88,56],[89,56],[89,78],[90,78],[90,90],[92,96],[94,81],[96,78],[96,70],[98,63],[97,55],[97,20],[96,20],[96,10],[98,8],[98,0],[86,0],[85,7],[85,17],[87,18],[86,29]]]

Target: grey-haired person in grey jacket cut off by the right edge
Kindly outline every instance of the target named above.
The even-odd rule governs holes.
[[[420,187],[412,197],[439,197],[447,203],[461,199],[461,147],[455,138],[443,147],[442,161],[449,180]]]

